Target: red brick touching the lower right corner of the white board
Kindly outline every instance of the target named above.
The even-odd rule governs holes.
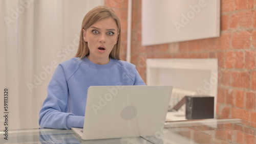
[[[231,34],[224,33],[215,39],[216,50],[227,50],[230,48]]]

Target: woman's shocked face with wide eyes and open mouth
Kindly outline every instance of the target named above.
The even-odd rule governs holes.
[[[106,64],[109,55],[118,40],[118,30],[113,18],[104,18],[95,22],[87,30],[83,29],[83,40],[88,42],[88,59],[96,64]]]

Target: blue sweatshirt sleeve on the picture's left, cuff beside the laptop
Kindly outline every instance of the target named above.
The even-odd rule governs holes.
[[[83,127],[84,116],[68,113],[68,84],[65,72],[58,65],[47,89],[48,95],[39,112],[39,126],[43,128],[71,129]]]

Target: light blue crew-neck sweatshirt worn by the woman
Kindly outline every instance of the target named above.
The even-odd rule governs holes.
[[[104,65],[87,57],[61,62],[48,85],[39,112],[39,126],[71,129],[83,127],[87,90],[99,85],[145,85],[135,65],[116,59]]]

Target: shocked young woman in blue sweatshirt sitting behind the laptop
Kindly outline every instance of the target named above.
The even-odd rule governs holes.
[[[120,60],[120,35],[120,20],[111,8],[99,6],[87,13],[75,58],[61,62],[48,85],[40,127],[82,128],[90,86],[145,85],[135,65]]]

